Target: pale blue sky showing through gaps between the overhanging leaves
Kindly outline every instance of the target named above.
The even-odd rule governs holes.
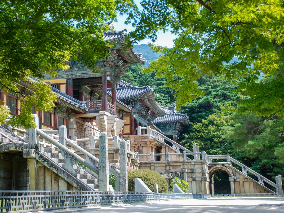
[[[136,5],[139,9],[142,9],[140,6],[141,0],[135,0]],[[114,22],[114,30],[120,31],[126,28],[127,32],[130,32],[134,30],[134,28],[131,25],[124,25],[124,22],[126,20],[126,16],[119,16],[117,17],[118,22]],[[166,47],[173,47],[174,42],[173,39],[176,37],[175,35],[171,34],[170,32],[166,33],[158,33],[158,40],[154,43],[156,45],[160,46],[166,46]],[[148,42],[151,42],[149,39],[145,39],[144,41],[139,42],[138,44],[147,44]]]

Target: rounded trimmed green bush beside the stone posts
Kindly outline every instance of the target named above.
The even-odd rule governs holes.
[[[140,178],[151,191],[154,192],[154,184],[158,183],[159,193],[168,191],[168,184],[158,172],[149,169],[139,169],[128,172],[128,191],[134,191],[134,178]]]

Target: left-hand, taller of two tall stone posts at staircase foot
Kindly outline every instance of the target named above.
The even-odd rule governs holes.
[[[99,191],[109,191],[108,139],[105,132],[99,135]]]

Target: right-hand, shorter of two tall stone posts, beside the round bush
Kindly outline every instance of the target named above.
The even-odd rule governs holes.
[[[127,144],[125,140],[119,143],[119,191],[128,191]]]

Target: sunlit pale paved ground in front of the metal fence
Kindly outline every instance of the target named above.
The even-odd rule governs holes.
[[[71,211],[81,213],[284,213],[284,197],[184,199],[112,204]]]

